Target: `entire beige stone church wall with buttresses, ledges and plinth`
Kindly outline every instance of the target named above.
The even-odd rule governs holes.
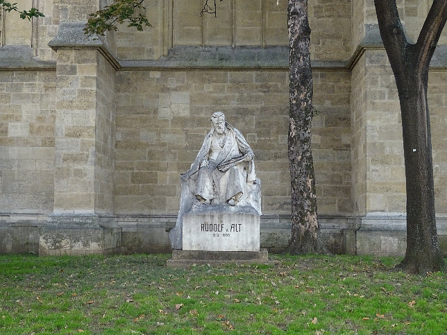
[[[37,0],[43,18],[2,17],[8,45],[0,49],[0,252],[168,251],[179,175],[217,110],[255,152],[261,246],[280,250],[290,233],[289,87],[287,50],[269,46],[288,45],[287,1],[217,1],[216,18],[199,15],[201,1],[146,0],[153,28],[120,27],[103,45],[83,39],[81,21],[110,1]],[[397,1],[413,40],[430,3]],[[400,255],[400,111],[373,0],[308,5],[323,234],[334,252]],[[58,34],[61,23],[65,33]],[[56,35],[57,53],[48,46]],[[439,44],[446,36],[444,29]],[[432,62],[428,101],[438,232],[447,250],[443,57]],[[56,231],[67,239],[52,240]]]

